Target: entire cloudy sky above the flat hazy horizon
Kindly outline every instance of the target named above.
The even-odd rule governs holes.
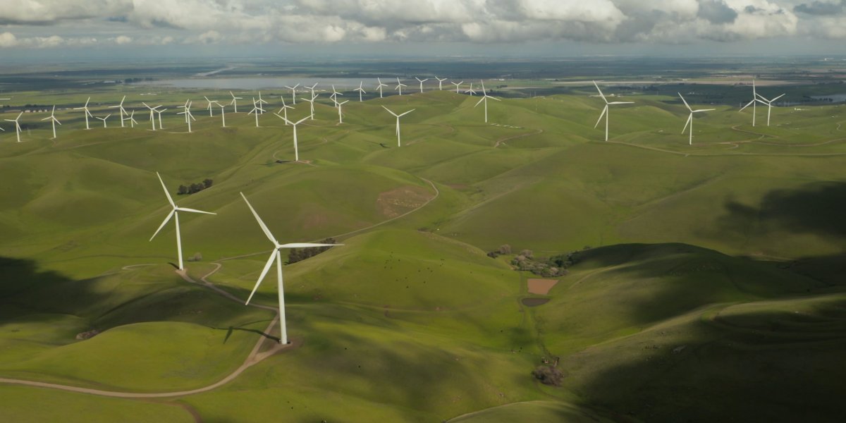
[[[43,56],[843,55],[846,0],[0,0]]]

